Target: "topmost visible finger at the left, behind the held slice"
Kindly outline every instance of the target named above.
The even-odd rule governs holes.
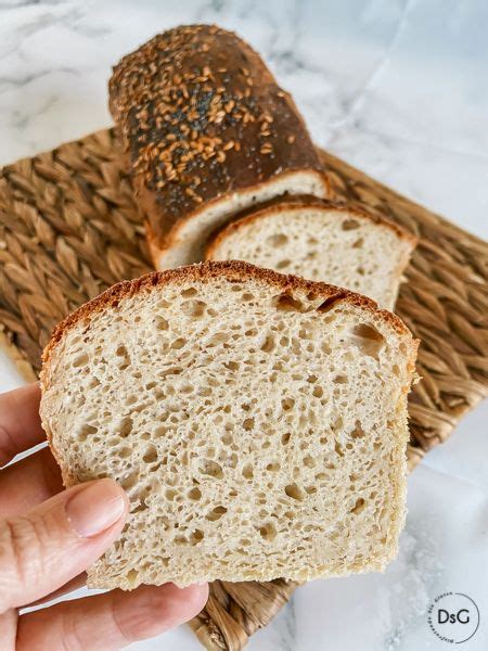
[[[40,388],[35,383],[0,394],[0,468],[46,439],[39,403]]]

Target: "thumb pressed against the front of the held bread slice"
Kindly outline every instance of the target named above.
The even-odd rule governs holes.
[[[123,529],[127,498],[112,480],[79,484],[22,518],[0,520],[0,613],[52,592]]]

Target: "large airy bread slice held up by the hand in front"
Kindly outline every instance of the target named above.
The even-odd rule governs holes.
[[[42,423],[67,486],[130,515],[92,587],[383,570],[416,342],[357,294],[245,263],[114,285],[54,331]]]

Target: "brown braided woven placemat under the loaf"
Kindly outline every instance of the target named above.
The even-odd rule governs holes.
[[[488,393],[488,246],[323,153],[338,196],[381,209],[419,238],[397,311],[422,341],[410,396],[413,468]],[[0,170],[0,329],[27,379],[54,323],[120,279],[150,269],[143,216],[111,130]],[[296,584],[216,582],[192,628],[242,649]]]

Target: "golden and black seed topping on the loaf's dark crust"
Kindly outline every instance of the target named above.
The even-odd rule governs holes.
[[[261,178],[272,169],[270,141],[278,133],[270,112],[277,94],[286,93],[246,48],[218,27],[183,26],[155,37],[115,68],[114,117],[133,169],[150,190],[160,191],[166,212],[202,203],[215,187],[233,182],[235,170],[249,167]],[[271,88],[265,93],[262,76]],[[295,140],[286,131],[284,137]],[[259,155],[268,157],[266,165]]]

